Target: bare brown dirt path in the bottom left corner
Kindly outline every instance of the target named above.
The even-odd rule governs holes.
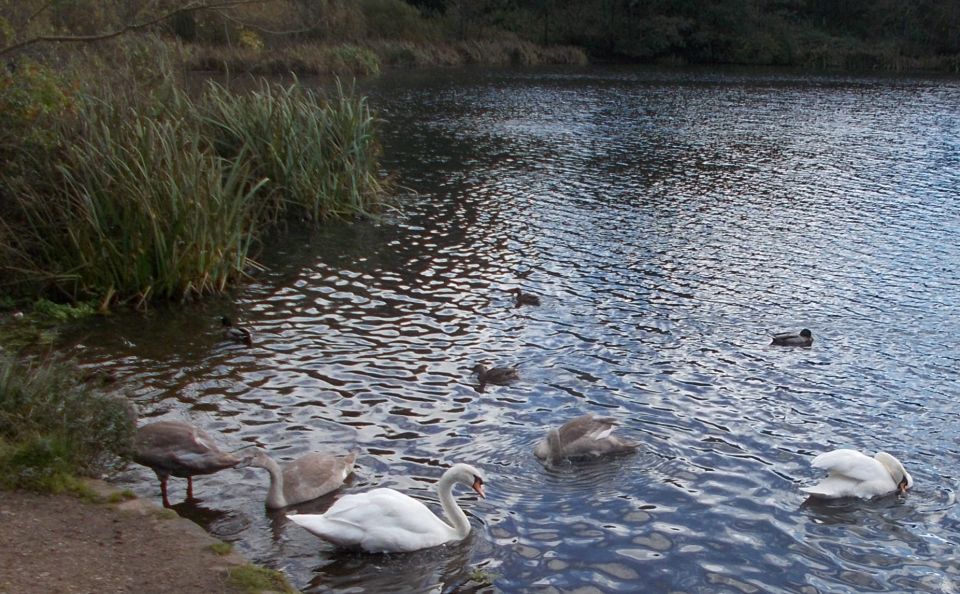
[[[227,583],[246,561],[218,542],[143,500],[0,491],[0,594],[247,592]]]

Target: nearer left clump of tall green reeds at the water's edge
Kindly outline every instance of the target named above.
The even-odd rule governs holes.
[[[184,99],[184,101],[186,101]],[[51,178],[17,194],[38,274],[72,298],[189,298],[246,265],[263,181],[209,149],[188,119],[81,108]]]

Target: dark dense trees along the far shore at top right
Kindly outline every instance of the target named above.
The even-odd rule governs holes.
[[[688,63],[957,67],[960,0],[408,0],[595,56]]]

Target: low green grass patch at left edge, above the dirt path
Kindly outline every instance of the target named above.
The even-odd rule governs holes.
[[[82,494],[78,477],[129,449],[126,403],[76,377],[66,364],[0,357],[0,487]]]

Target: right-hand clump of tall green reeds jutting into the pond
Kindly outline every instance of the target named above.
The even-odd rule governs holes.
[[[319,222],[381,207],[375,118],[366,101],[345,93],[339,81],[329,99],[296,82],[264,81],[243,96],[210,83],[203,108],[217,151],[269,180],[263,220]]]

